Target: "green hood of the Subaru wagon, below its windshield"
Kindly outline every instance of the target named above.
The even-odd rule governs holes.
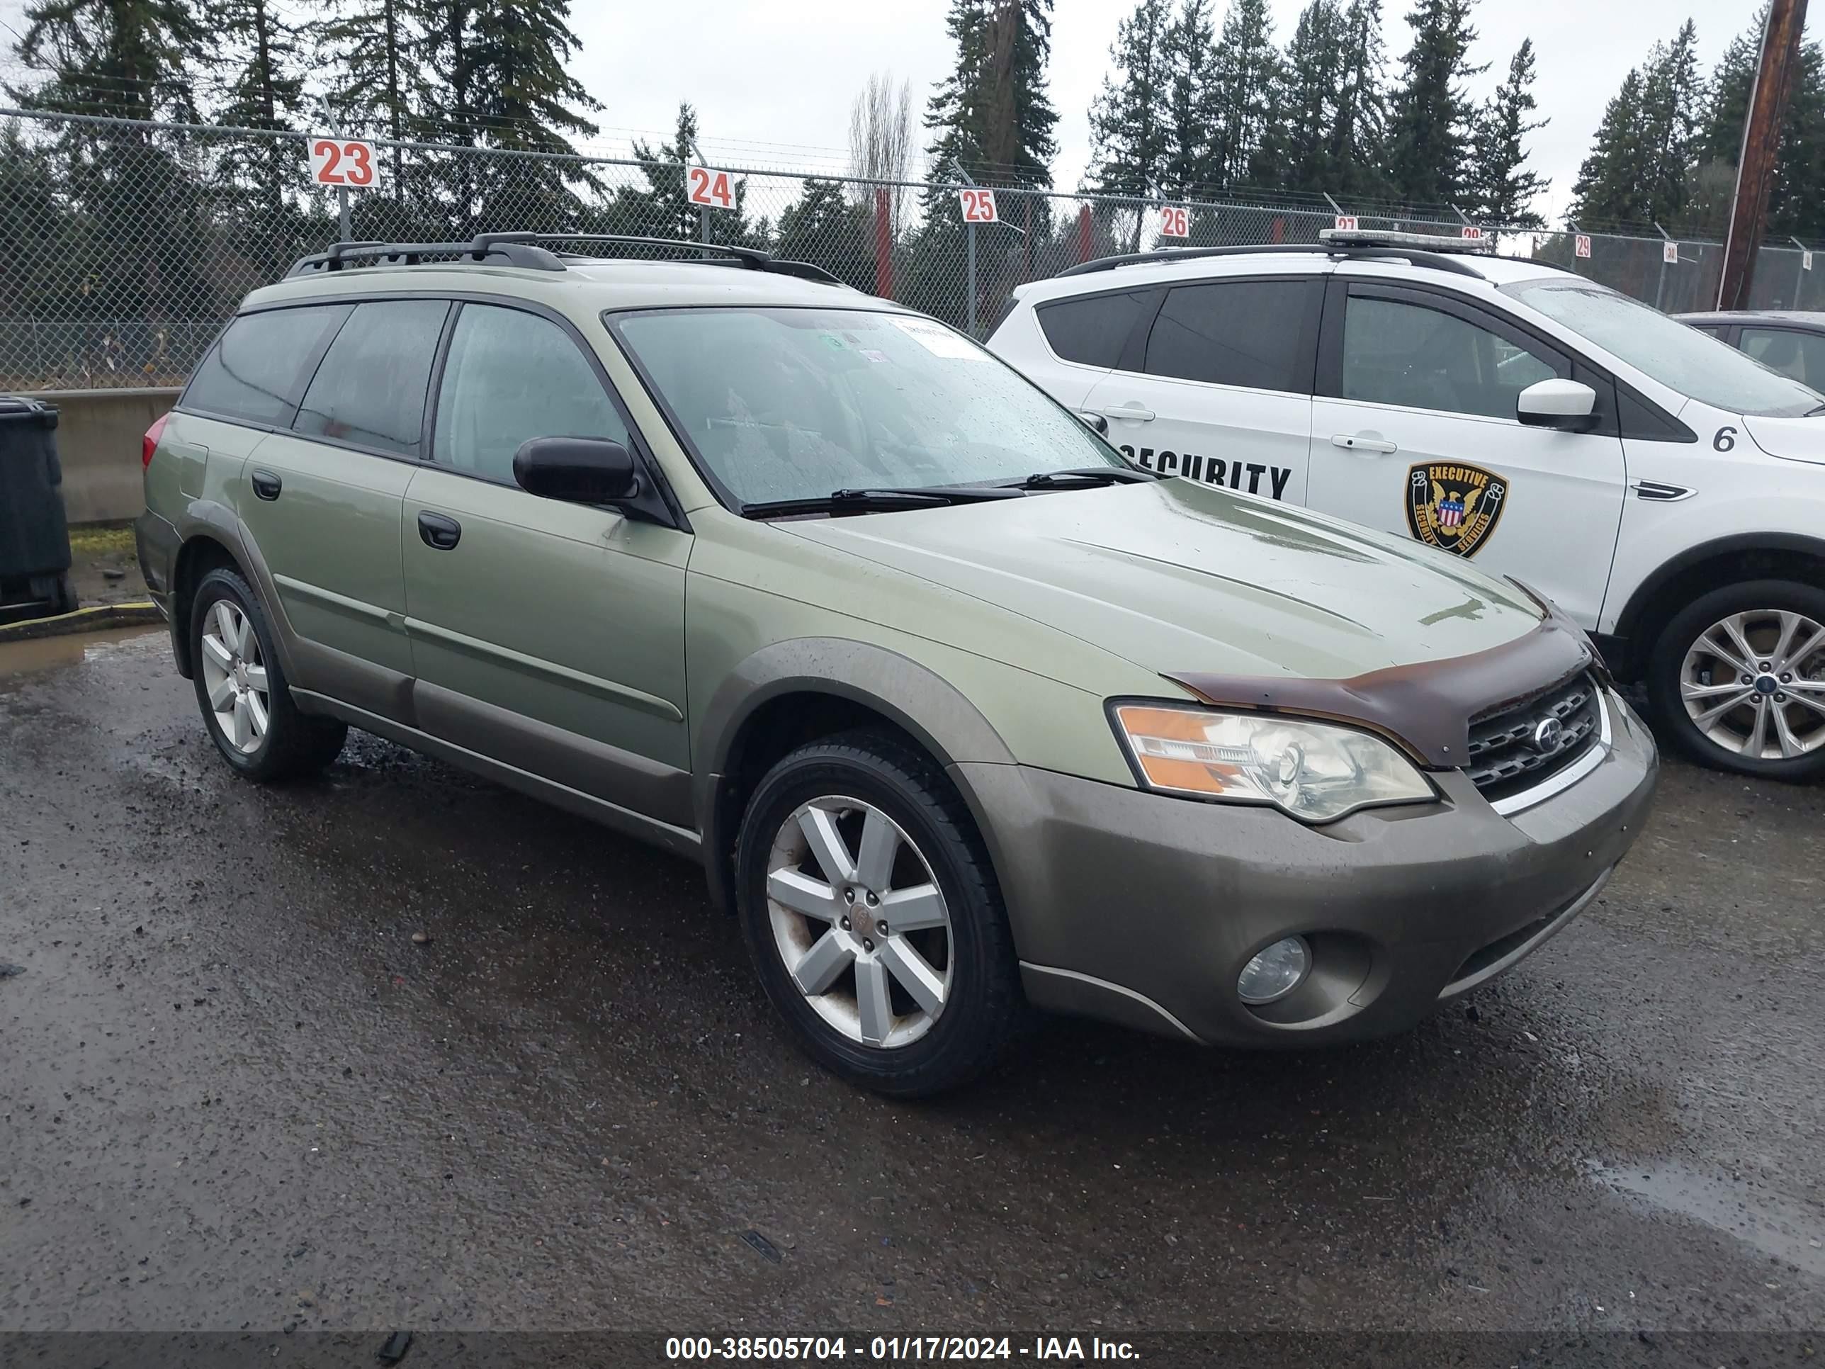
[[[1445,553],[1192,480],[776,526],[1152,672],[1347,679],[1540,622]]]

